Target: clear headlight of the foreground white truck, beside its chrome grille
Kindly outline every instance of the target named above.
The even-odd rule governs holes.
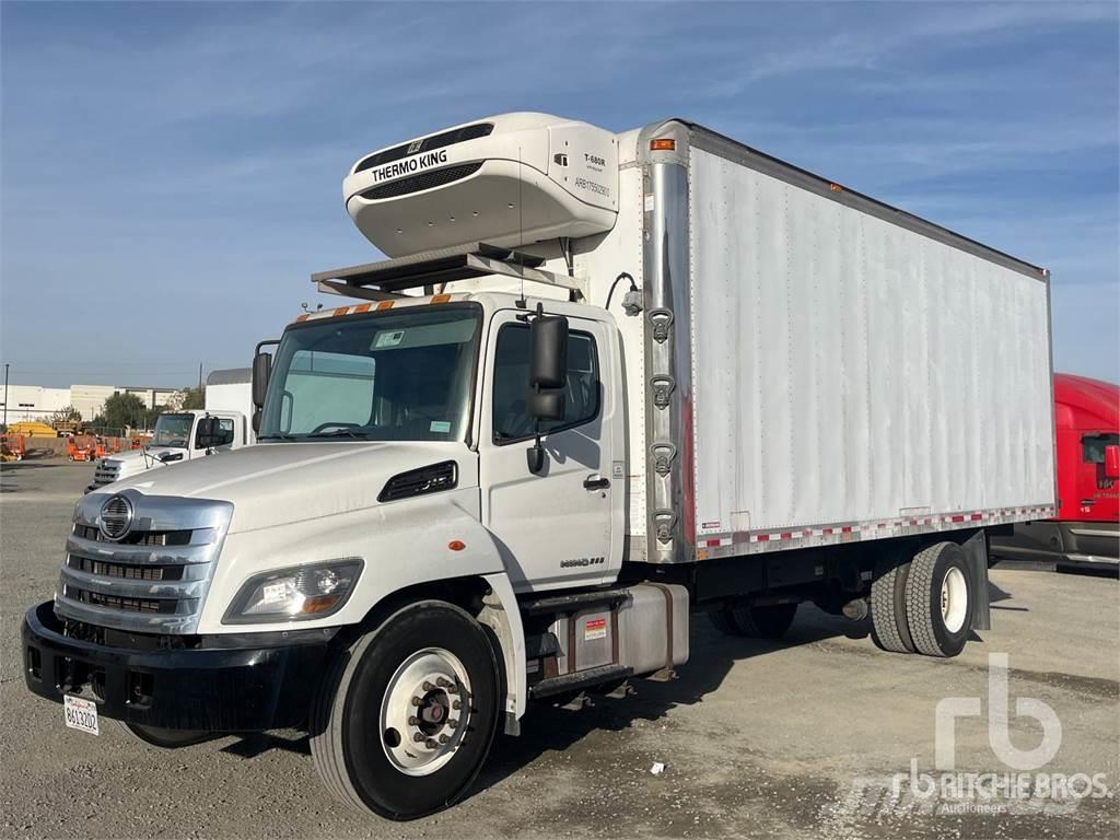
[[[222,623],[323,618],[342,609],[361,573],[362,561],[347,558],[258,575],[241,587]]]

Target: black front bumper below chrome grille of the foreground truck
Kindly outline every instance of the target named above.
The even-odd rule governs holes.
[[[100,716],[165,729],[299,726],[337,628],[204,636],[196,647],[133,650],[63,634],[54,605],[27,612],[24,676],[36,694],[93,700]]]

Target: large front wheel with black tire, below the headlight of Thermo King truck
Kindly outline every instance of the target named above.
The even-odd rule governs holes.
[[[417,708],[428,719],[411,715]],[[485,632],[451,604],[421,601],[336,657],[311,704],[311,755],[343,802],[413,820],[467,792],[497,718],[498,665]]]

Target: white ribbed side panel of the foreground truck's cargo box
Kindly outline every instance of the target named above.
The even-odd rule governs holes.
[[[690,152],[698,548],[1047,515],[1045,272],[792,180]]]

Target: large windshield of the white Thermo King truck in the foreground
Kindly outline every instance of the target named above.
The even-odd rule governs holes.
[[[464,440],[480,309],[310,321],[277,349],[258,440]]]

